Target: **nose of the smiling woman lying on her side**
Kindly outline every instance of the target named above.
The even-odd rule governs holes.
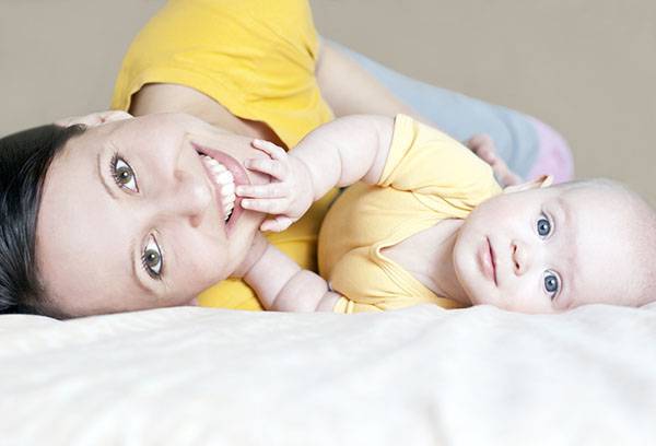
[[[211,203],[212,191],[207,181],[202,181],[196,175],[185,171],[176,171],[174,174],[175,186],[165,193],[168,212],[183,218],[188,218],[192,226],[198,226]]]

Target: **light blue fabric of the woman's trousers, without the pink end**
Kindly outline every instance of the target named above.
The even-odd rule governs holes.
[[[526,115],[417,81],[340,44],[331,44],[361,63],[399,99],[452,137],[465,141],[476,133],[490,134],[508,167],[527,177],[538,157],[539,140],[536,128]]]

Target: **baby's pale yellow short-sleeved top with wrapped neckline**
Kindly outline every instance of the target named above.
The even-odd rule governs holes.
[[[440,297],[382,250],[434,226],[465,219],[499,193],[492,169],[441,131],[398,115],[376,186],[351,186],[333,203],[319,234],[319,271],[343,295],[337,313],[401,308]]]

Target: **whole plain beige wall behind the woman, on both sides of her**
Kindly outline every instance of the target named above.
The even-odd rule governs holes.
[[[105,107],[122,52],[162,3],[0,0],[0,133]],[[571,142],[579,175],[623,179],[656,203],[656,2],[312,4],[326,36],[542,118]]]

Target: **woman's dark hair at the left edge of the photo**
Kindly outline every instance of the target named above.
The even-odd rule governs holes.
[[[48,125],[0,139],[0,314],[46,314],[35,259],[36,220],[50,163],[82,125]]]

